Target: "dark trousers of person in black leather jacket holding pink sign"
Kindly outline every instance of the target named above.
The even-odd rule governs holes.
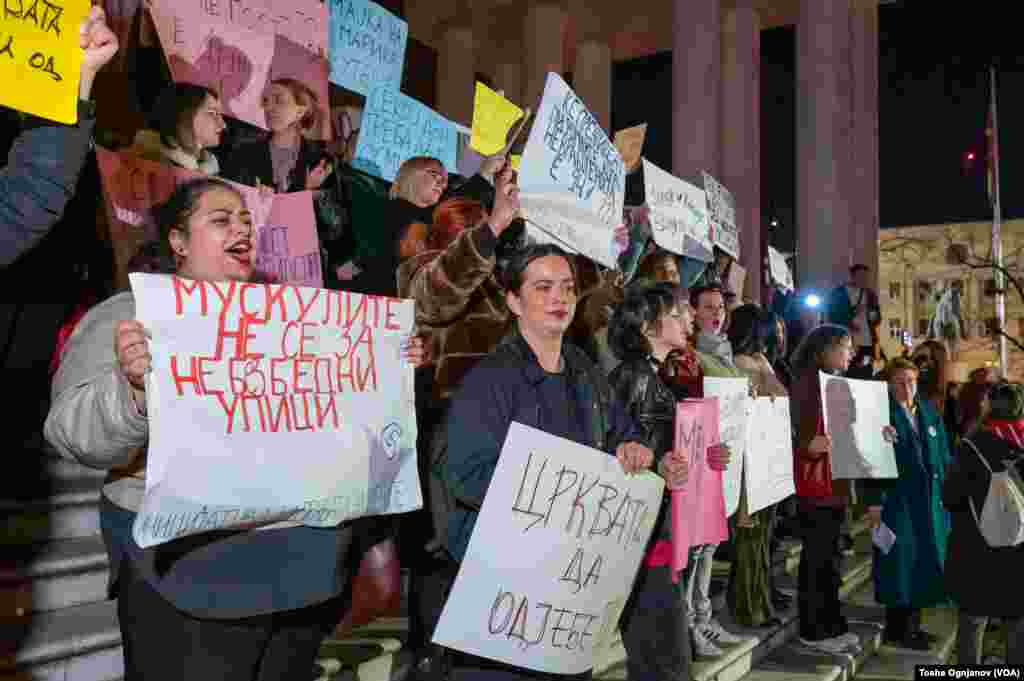
[[[690,681],[690,631],[672,568],[640,567],[621,621],[630,681]]]

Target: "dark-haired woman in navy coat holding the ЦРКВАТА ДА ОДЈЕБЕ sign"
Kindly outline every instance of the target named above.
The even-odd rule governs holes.
[[[569,257],[556,246],[527,248],[513,256],[503,283],[516,328],[466,375],[447,419],[443,473],[458,505],[451,513],[446,546],[459,562],[466,556],[513,422],[613,454],[627,472],[645,470],[653,461],[642,432],[614,400],[604,375],[582,350],[564,342],[577,303],[575,272]],[[494,540],[500,542],[501,538]],[[575,533],[566,536],[565,542],[574,543]],[[583,623],[586,618],[577,620]],[[534,625],[530,628],[532,637]],[[492,638],[500,636],[510,642],[510,649],[518,650],[517,631],[510,635],[493,631]],[[587,652],[595,634],[577,632],[577,654]],[[590,642],[587,647],[585,639]],[[557,652],[523,650],[522,664],[509,665],[452,651],[453,678],[483,679],[496,670],[505,678],[531,678],[537,673],[529,669],[543,665],[528,664],[529,657]]]

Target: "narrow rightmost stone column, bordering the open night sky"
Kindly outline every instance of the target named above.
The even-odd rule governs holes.
[[[854,0],[850,22],[852,163],[850,249],[879,286],[879,4]]]

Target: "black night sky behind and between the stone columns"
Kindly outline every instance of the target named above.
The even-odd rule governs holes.
[[[1016,3],[1006,3],[1013,5]],[[987,66],[999,62],[1004,218],[1024,217],[1024,48],[1004,3],[897,2],[879,8],[880,210],[884,227],[989,220],[985,195]],[[992,14],[991,12],[995,12]],[[771,243],[794,248],[796,218],[796,34],[761,34],[761,167]],[[672,56],[616,63],[612,127],[648,122],[644,155],[671,169]],[[975,152],[973,168],[965,156]]]

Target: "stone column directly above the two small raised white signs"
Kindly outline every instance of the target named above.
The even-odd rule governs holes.
[[[716,177],[719,164],[720,0],[675,0],[672,49],[672,173]],[[730,187],[731,188],[731,187]]]

